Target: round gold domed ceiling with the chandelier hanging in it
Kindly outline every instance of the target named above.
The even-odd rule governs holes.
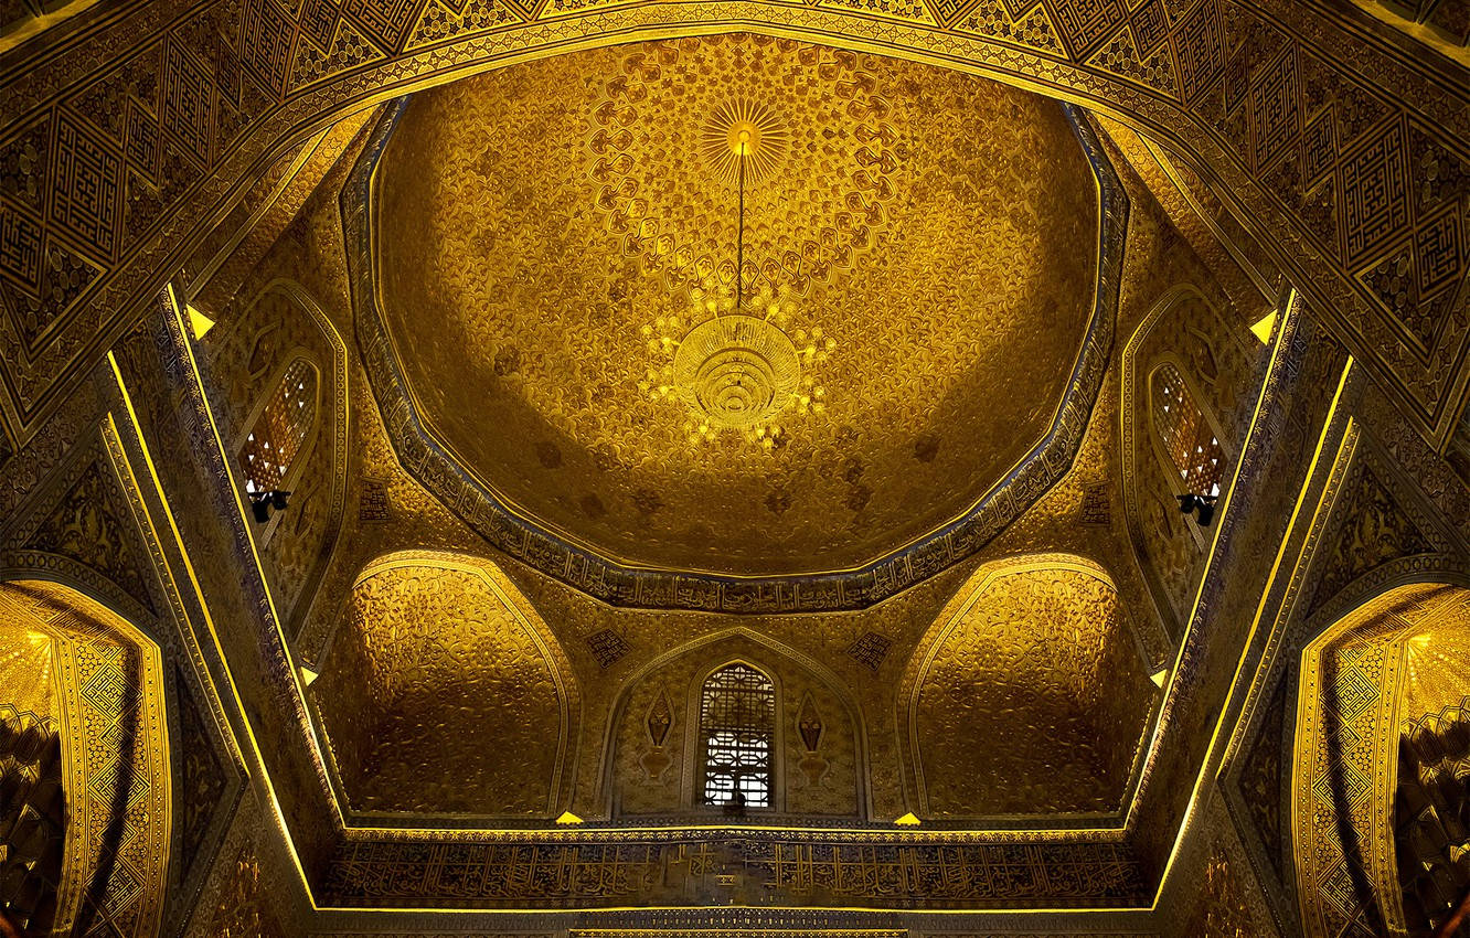
[[[1055,101],[764,37],[417,94],[372,200],[434,444],[631,568],[842,570],[944,526],[1047,435],[1095,307]]]

